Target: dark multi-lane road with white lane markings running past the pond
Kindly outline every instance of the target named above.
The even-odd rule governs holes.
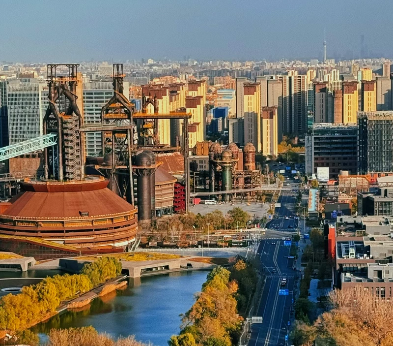
[[[255,308],[257,310],[253,315],[262,316],[263,322],[252,325],[249,346],[287,345],[285,335],[289,330],[288,321],[291,317],[292,299],[296,293],[294,288],[297,286],[298,272],[292,269],[294,259],[288,258],[289,247],[284,246],[281,237],[289,235],[289,225],[292,225],[289,231],[297,232],[299,220],[294,219],[296,193],[282,192],[278,202],[281,203],[281,207],[276,208],[278,219],[273,219],[266,227],[273,228],[274,231],[267,232],[266,237],[269,239],[261,240],[257,250],[266,282],[259,306]],[[274,227],[275,224],[279,224],[278,229]],[[277,239],[272,239],[275,237]],[[282,278],[286,278],[287,281],[283,287]],[[281,288],[287,289],[289,295],[279,295]]]

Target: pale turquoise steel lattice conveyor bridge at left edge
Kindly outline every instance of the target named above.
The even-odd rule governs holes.
[[[47,147],[51,147],[57,144],[57,134],[49,133],[44,136],[29,139],[24,142],[9,145],[7,147],[0,148],[0,161],[7,160],[11,157],[24,155],[35,152],[36,150],[42,150]]]

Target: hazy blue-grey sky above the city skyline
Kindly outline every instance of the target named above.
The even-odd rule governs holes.
[[[393,57],[393,0],[0,0],[0,61]]]

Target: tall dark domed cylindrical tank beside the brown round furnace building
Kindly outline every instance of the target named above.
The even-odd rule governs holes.
[[[151,220],[151,191],[150,191],[150,166],[151,157],[148,153],[141,152],[135,159],[138,194],[138,220]],[[146,168],[143,168],[146,167]]]

